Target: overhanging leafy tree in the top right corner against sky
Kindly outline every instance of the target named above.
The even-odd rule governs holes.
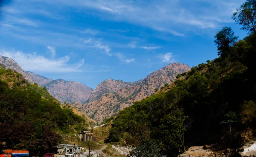
[[[243,25],[241,29],[256,33],[256,0],[247,0],[233,14],[233,20]]]

